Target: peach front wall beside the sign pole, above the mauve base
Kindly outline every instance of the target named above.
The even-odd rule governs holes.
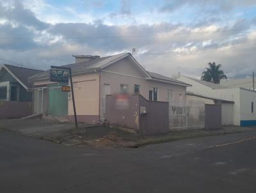
[[[77,115],[99,115],[99,73],[73,75],[72,81]],[[71,94],[68,115],[74,115]]]

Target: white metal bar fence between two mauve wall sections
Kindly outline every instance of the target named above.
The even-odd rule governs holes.
[[[204,102],[169,102],[169,127],[175,128],[204,128]]]

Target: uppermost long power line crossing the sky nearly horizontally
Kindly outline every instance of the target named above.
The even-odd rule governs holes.
[[[163,34],[151,34],[151,35],[134,35],[134,36],[83,36],[83,37],[61,37],[63,39],[118,39],[118,38],[143,38],[143,37],[150,37],[150,36],[172,36],[172,35],[200,35],[204,33],[226,33],[226,32],[232,32],[232,31],[250,31],[254,30],[255,28],[250,29],[229,29],[229,30],[218,30],[218,31],[198,31],[198,32],[189,32],[189,33],[163,33]],[[16,37],[16,38],[0,38],[0,40],[36,40],[40,37],[35,38],[22,38],[22,37]]]

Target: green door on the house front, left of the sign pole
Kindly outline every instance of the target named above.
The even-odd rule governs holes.
[[[61,86],[49,86],[48,114],[66,116],[68,114],[68,92],[61,91]]]

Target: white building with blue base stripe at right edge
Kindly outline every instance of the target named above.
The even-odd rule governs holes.
[[[223,125],[229,125],[229,120],[232,120],[232,125],[256,125],[255,91],[240,87],[229,88],[228,86],[200,81],[184,75],[180,76],[178,80],[192,85],[187,88],[187,92],[220,99]],[[223,101],[231,101],[234,104]]]

